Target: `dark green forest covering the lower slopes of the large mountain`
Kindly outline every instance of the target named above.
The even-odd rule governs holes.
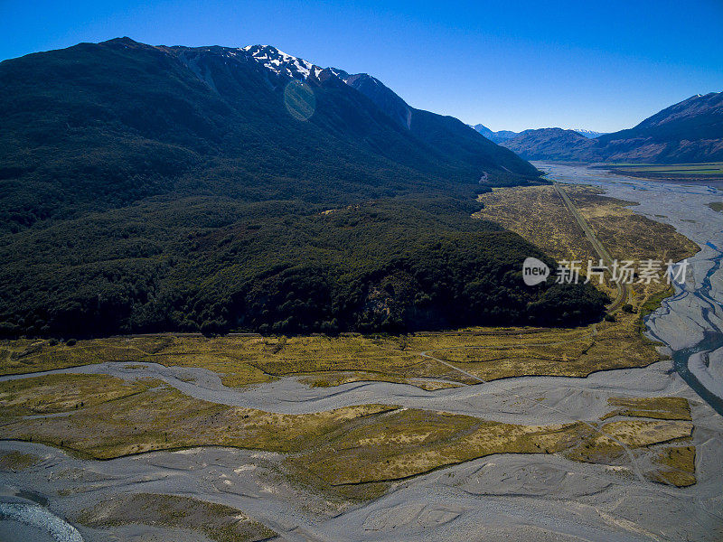
[[[234,205],[213,205],[212,219],[204,206],[138,205],[14,234],[0,248],[9,262],[0,331],[403,332],[602,314],[605,298],[588,286],[524,286],[521,261],[539,250],[470,220],[474,207],[459,201],[376,201],[294,217],[259,208],[253,223],[211,227],[220,213],[240,212]],[[135,233],[126,242],[116,236],[128,220]],[[139,255],[140,246],[154,254]]]

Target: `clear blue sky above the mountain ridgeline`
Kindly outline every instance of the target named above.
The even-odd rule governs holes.
[[[723,90],[723,0],[0,0],[0,59],[127,35],[262,43],[494,130],[634,126]]]

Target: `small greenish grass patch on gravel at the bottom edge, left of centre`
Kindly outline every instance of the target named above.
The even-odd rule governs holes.
[[[104,528],[141,524],[170,528],[190,528],[215,542],[256,542],[277,533],[249,519],[238,509],[222,504],[155,493],[132,493],[102,500],[78,514],[79,523]]]

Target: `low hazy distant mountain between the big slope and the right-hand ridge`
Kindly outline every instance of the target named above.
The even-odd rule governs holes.
[[[525,130],[501,145],[526,160],[587,160],[594,154],[595,142],[574,130],[540,128]]]

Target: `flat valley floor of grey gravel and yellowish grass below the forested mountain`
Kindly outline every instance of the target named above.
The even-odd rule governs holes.
[[[612,257],[682,259],[723,229],[717,192],[676,192],[665,217],[633,208],[691,246],[627,209],[647,190],[629,182],[601,184],[616,201],[565,187]],[[480,218],[553,257],[595,257],[555,194],[495,191]],[[718,540],[723,417],[640,333],[667,294],[636,285],[633,312],[575,330],[5,342],[0,534]],[[666,306],[654,339],[682,348],[696,316]],[[715,376],[711,360],[697,370]]]

